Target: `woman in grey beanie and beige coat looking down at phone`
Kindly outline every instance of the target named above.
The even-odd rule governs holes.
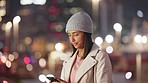
[[[112,67],[108,54],[93,43],[91,17],[85,12],[71,16],[66,33],[73,47],[71,58],[64,61],[59,82],[52,83],[111,83]]]

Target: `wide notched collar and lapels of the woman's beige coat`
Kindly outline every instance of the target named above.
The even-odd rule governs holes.
[[[97,61],[95,60],[95,56],[98,50],[99,50],[99,47],[96,44],[93,44],[90,53],[87,55],[87,57],[84,59],[79,69],[77,70],[74,83],[78,83],[80,78],[97,63]],[[68,77],[70,77],[71,68],[76,58],[77,52],[78,51],[76,51],[75,54],[67,61],[67,69],[66,69],[67,80],[69,80]]]

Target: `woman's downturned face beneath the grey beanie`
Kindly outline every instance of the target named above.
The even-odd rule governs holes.
[[[84,32],[77,31],[77,30],[69,30],[67,31],[69,36],[69,40],[71,44],[76,49],[83,49],[84,48]]]

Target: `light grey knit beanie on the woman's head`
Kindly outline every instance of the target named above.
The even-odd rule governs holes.
[[[66,32],[68,30],[78,30],[92,34],[93,23],[91,17],[85,12],[73,14],[66,24]]]

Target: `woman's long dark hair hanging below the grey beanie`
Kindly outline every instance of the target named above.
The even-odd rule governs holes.
[[[85,38],[84,38],[84,54],[83,54],[83,57],[82,58],[85,58],[88,53],[90,52],[91,48],[92,48],[92,45],[93,45],[93,41],[92,41],[92,38],[91,38],[91,33],[86,33],[84,32],[85,34]],[[72,53],[72,56],[74,55],[74,53],[76,52],[76,48],[71,44],[72,46],[72,50],[73,50],[73,53]]]

